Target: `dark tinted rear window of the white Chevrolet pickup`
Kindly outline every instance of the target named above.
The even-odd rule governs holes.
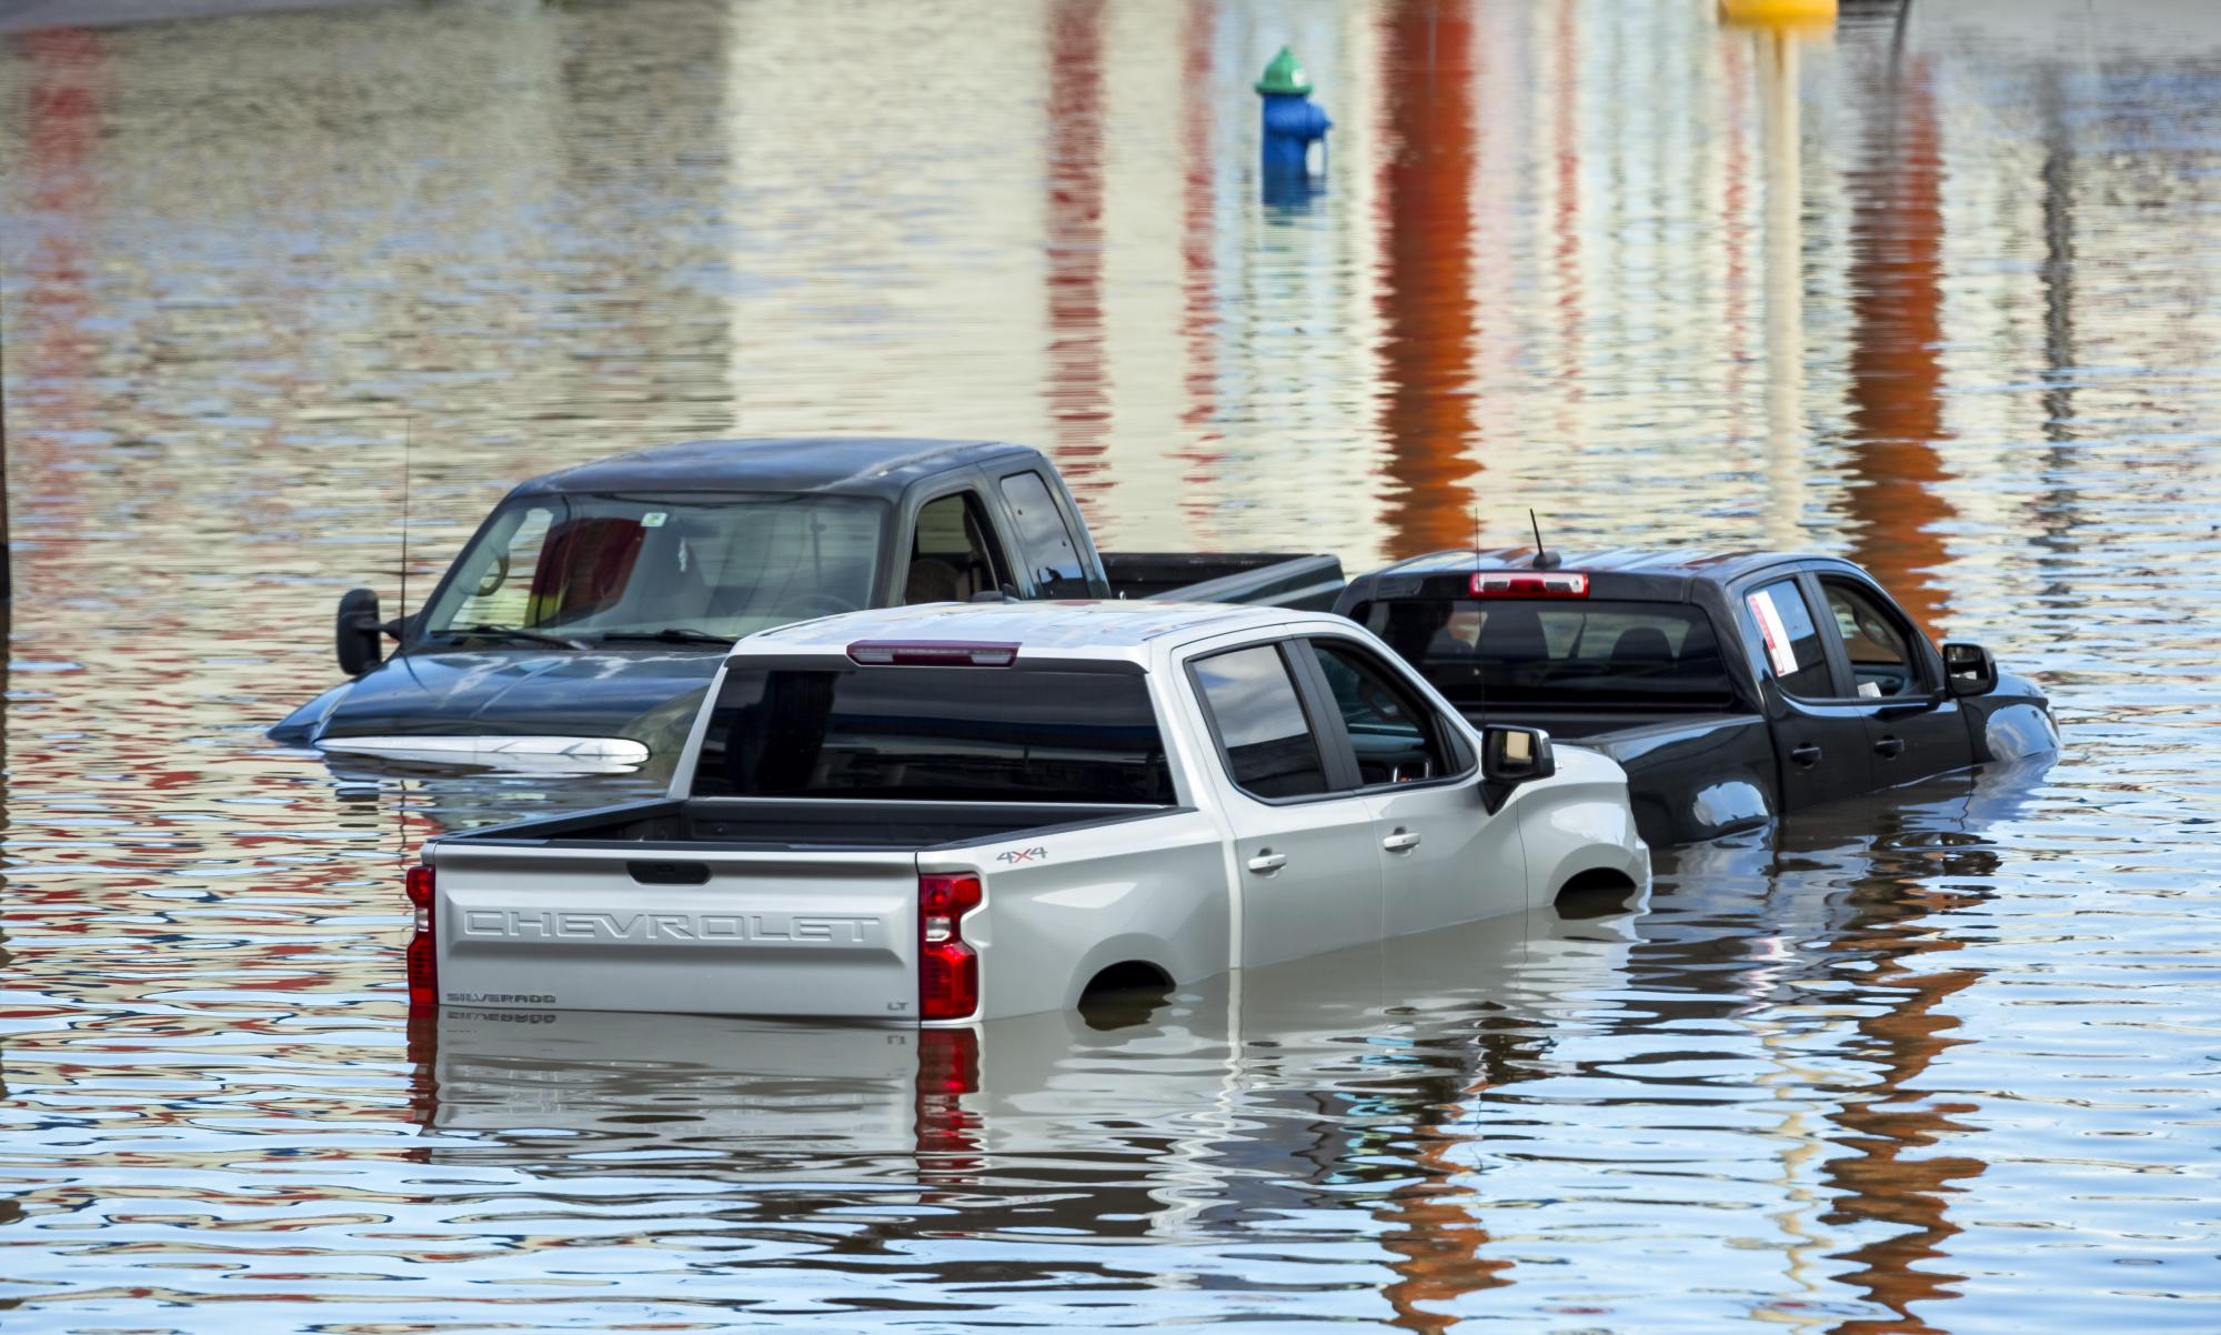
[[[1173,804],[1139,675],[751,669],[724,677],[697,797]]]

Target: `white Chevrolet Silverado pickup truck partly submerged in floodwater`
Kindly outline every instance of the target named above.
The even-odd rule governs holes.
[[[735,644],[662,802],[424,844],[409,993],[971,1024],[1648,877],[1617,764],[1355,622],[904,606]]]

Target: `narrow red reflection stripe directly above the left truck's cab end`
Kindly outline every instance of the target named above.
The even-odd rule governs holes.
[[[1102,82],[1102,7],[1059,0],[1048,13],[1048,415],[1057,424],[1057,466],[1082,504],[1110,484]]]

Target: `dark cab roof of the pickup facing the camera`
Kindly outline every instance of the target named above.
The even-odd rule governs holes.
[[[775,435],[686,440],[635,449],[520,482],[515,495],[575,491],[837,491],[900,498],[911,484],[991,460],[1042,451],[993,440],[900,435]]]

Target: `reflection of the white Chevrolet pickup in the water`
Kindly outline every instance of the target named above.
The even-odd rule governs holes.
[[[931,1186],[979,1153],[1128,1160],[1144,1180],[1106,1173],[1066,1197],[1071,1217],[1026,1215],[1091,1231],[1128,1215],[1155,1233],[1337,1153],[1333,1117],[1257,1117],[1282,1091],[1370,1120],[1408,1100],[1417,1122],[1455,1122],[1466,1088],[1539,1073],[1550,1026],[1624,977],[1632,909],[1584,900],[1581,915],[1541,909],[973,1028],[446,1006],[413,1057],[431,1075],[426,1126],[493,1137],[438,1151],[455,1164],[522,1153],[540,1173],[593,1175],[624,1155],[640,1175],[822,1184],[842,1162]],[[1368,1033],[1406,1042],[1353,1042]],[[1433,1033],[1455,1042],[1408,1042]],[[1173,1148],[1137,1153],[1137,1131]],[[693,1153],[653,1153],[666,1146]],[[1268,1166],[1282,1173],[1257,1182]],[[1110,1204],[1113,1182],[1133,1195]]]

